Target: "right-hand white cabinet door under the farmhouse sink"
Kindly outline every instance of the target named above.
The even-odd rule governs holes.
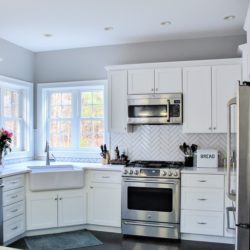
[[[83,190],[58,193],[58,226],[86,223],[86,195]]]

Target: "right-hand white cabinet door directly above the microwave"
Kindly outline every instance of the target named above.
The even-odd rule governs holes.
[[[182,93],[181,68],[156,69],[155,93]]]

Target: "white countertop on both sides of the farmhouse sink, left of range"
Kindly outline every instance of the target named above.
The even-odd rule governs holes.
[[[26,161],[15,164],[6,165],[0,169],[0,178],[7,177],[15,174],[28,173],[31,166],[44,166],[44,161]],[[82,163],[82,162],[53,162],[53,165],[73,165],[85,170],[104,170],[104,171],[122,171],[123,165],[103,165],[101,163]]]

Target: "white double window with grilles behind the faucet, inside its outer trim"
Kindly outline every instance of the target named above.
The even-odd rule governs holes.
[[[44,84],[39,85],[43,88]],[[44,103],[42,99],[46,103],[43,138],[49,141],[51,150],[99,150],[105,140],[104,85],[45,87],[42,93],[40,104]]]

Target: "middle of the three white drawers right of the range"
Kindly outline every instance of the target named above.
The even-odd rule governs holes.
[[[181,209],[223,211],[224,190],[208,188],[181,189]]]

